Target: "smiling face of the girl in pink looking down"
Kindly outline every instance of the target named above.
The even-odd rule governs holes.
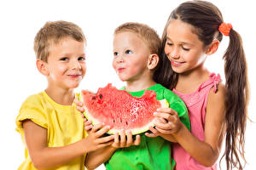
[[[181,20],[172,20],[167,27],[165,53],[177,73],[202,68],[207,57],[203,42],[193,29]]]

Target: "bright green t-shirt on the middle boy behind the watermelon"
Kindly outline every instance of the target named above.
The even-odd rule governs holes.
[[[125,90],[125,88],[121,88],[121,90]],[[166,99],[170,108],[177,111],[181,122],[190,130],[187,107],[177,94],[160,84],[156,84],[148,90],[153,90],[157,94],[156,99]],[[144,92],[145,90],[128,93],[141,97]],[[144,133],[141,134],[140,145],[120,148],[105,162],[105,166],[109,170],[170,170],[174,168],[174,165],[175,161],[171,156],[171,142],[161,137],[148,138]]]

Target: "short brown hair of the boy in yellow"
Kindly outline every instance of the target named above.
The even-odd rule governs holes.
[[[52,43],[57,44],[65,37],[73,37],[76,41],[86,43],[83,31],[72,22],[64,20],[46,22],[34,39],[34,51],[37,59],[47,62],[49,46]]]

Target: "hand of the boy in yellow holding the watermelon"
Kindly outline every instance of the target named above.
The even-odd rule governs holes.
[[[107,137],[102,137],[104,133],[107,133],[110,127],[103,127],[103,125],[96,124],[91,130],[89,135],[84,139],[87,152],[95,151],[113,144],[114,136],[110,135]]]

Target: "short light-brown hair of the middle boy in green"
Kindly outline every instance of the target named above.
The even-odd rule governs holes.
[[[125,24],[117,27],[114,30],[114,34],[118,34],[124,31],[137,33],[137,35],[141,37],[143,41],[148,45],[150,53],[158,55],[160,54],[161,40],[153,28],[136,22],[126,22]]]

